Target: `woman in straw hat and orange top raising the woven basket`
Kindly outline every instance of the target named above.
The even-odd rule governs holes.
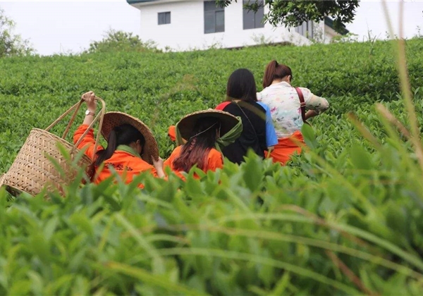
[[[73,142],[76,144],[94,120],[97,107],[94,92],[82,95],[87,104],[87,112],[82,125],[75,131]],[[163,160],[159,158],[157,142],[147,125],[137,118],[121,112],[108,112],[104,115],[102,135],[107,140],[107,147],[98,147],[94,152],[94,131],[90,130],[78,145],[78,149],[85,149],[85,155],[94,161],[94,183],[101,183],[110,178],[113,168],[123,181],[128,184],[133,178],[145,171],[155,177],[164,178]],[[153,165],[151,165],[153,164]],[[139,184],[142,188],[143,185]]]

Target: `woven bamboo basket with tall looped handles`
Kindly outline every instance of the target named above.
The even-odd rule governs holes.
[[[20,149],[18,156],[16,156],[15,161],[13,161],[11,168],[0,177],[0,186],[6,186],[6,190],[13,196],[20,195],[22,192],[27,192],[32,196],[38,195],[44,188],[47,189],[47,191],[59,190],[59,192],[63,193],[63,187],[72,183],[77,177],[78,169],[86,169],[92,161],[88,156],[83,155],[82,158],[78,159],[76,165],[71,164],[71,161],[73,161],[75,156],[79,153],[76,147],[78,147],[78,144],[80,144],[85,135],[87,135],[90,128],[94,126],[94,123],[99,121],[99,130],[102,128],[106,105],[102,99],[96,97],[96,100],[102,103],[102,110],[97,114],[90,127],[87,128],[75,145],[64,139],[66,135],[68,135],[69,129],[75,120],[83,100],[72,106],[71,109],[68,109],[68,111],[63,113],[45,130],[33,128],[23,144],[23,147]],[[59,121],[72,111],[73,116],[68,122],[62,137],[49,132],[54,125],[59,123]],[[97,134],[94,151],[97,151],[99,135],[100,132]],[[58,144],[69,152],[71,161],[63,156]],[[59,165],[61,169],[58,170],[56,167],[57,165]]]

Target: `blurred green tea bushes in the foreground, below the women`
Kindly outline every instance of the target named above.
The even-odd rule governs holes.
[[[186,183],[141,175],[145,190],[1,191],[0,292],[420,295],[422,171],[391,144],[353,145],[344,173],[307,157],[309,176],[250,156]]]

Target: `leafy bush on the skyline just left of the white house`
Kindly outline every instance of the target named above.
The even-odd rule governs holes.
[[[159,51],[156,44],[151,41],[142,42],[138,35],[133,36],[130,32],[106,31],[102,41],[94,41],[90,44],[88,52],[110,52],[110,51]]]

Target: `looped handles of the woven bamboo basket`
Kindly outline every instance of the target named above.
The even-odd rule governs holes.
[[[72,152],[73,152],[73,150],[76,147],[78,147],[80,142],[82,142],[82,139],[87,135],[87,133],[90,131],[90,129],[94,126],[94,123],[99,121],[99,132],[97,132],[97,137],[95,139],[94,154],[92,156],[92,160],[94,160],[95,152],[97,151],[97,146],[99,144],[100,134],[101,134],[102,126],[103,126],[104,114],[106,113],[106,103],[104,103],[104,100],[102,98],[99,98],[99,97],[94,97],[94,99],[96,101],[99,101],[100,103],[102,103],[102,109],[97,114],[97,116],[94,117],[94,120],[92,121],[92,123],[88,126],[87,130],[85,130],[85,132],[82,134],[82,136],[80,137],[78,142],[76,142],[75,145],[73,145],[73,149],[72,149]],[[73,111],[73,115],[72,115],[71,120],[69,121],[68,125],[66,126],[65,132],[63,132],[62,139],[64,139],[66,137],[66,135],[68,135],[68,132],[71,128],[71,125],[72,125],[73,121],[75,121],[75,117],[78,114],[80,106],[82,105],[83,102],[84,102],[84,99],[80,99],[80,101],[77,104],[71,106],[71,108],[69,108],[68,111],[66,111],[61,116],[59,116],[59,118],[57,118],[56,121],[54,121],[54,123],[51,123],[51,125],[49,125],[46,128],[46,131],[48,132],[49,130],[51,130],[51,128],[53,128],[57,123],[59,123],[59,121],[61,121],[65,116],[67,116],[69,113],[71,113],[71,111],[75,110],[75,111]]]

